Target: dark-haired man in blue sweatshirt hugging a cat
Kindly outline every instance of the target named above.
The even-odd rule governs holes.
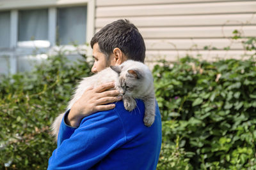
[[[91,41],[95,62],[92,72],[145,59],[145,44],[127,20],[103,27]],[[145,106],[137,100],[129,112],[118,98],[113,82],[88,89],[67,110],[60,125],[58,147],[48,169],[156,169],[161,148],[161,115],[151,127],[143,124]],[[110,103],[110,104],[109,104]]]

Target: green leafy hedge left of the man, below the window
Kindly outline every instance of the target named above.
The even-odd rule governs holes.
[[[32,73],[2,77],[0,83],[0,169],[47,169],[56,144],[50,126],[65,111],[79,78],[92,64],[70,64],[51,56]]]

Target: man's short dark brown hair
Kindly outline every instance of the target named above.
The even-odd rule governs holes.
[[[144,62],[145,43],[134,24],[129,20],[116,20],[106,25],[97,32],[92,40],[91,46],[99,44],[100,51],[109,59],[109,55],[117,47],[127,56],[127,59]]]

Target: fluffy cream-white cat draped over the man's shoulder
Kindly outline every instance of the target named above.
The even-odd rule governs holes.
[[[155,93],[151,71],[142,62],[127,60],[120,66],[108,67],[99,73],[83,78],[69,102],[67,110],[83,95],[88,87],[98,87],[103,83],[115,81],[115,89],[122,94],[125,110],[132,111],[136,107],[136,99],[142,99],[145,104],[144,124],[151,126],[155,118]],[[52,124],[52,134],[58,136],[61,113]]]

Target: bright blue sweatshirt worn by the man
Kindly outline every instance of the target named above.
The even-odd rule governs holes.
[[[137,106],[129,112],[119,101],[113,110],[84,117],[77,128],[63,119],[48,169],[156,169],[161,149],[159,108],[154,124],[146,127],[143,101],[137,100]]]

